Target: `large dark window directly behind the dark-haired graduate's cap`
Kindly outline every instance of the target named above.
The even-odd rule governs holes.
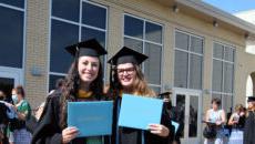
[[[50,88],[68,72],[73,58],[64,50],[78,41],[95,38],[103,47],[106,41],[108,9],[88,0],[52,0]]]

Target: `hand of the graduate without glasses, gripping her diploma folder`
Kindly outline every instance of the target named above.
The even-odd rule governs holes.
[[[76,127],[67,127],[62,131],[62,142],[63,144],[70,143],[79,134]]]

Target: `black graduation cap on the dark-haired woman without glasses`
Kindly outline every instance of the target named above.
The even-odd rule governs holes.
[[[84,55],[100,56],[108,53],[105,49],[95,39],[90,39],[73,45],[69,45],[65,48],[65,50],[73,56],[78,58]]]

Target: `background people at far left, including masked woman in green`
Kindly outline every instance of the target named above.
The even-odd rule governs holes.
[[[31,133],[26,127],[26,121],[31,116],[31,107],[26,100],[23,86],[12,89],[11,99],[0,92],[1,105],[1,138],[3,144],[29,144]],[[6,111],[2,107],[7,107]],[[4,115],[6,113],[6,115]]]

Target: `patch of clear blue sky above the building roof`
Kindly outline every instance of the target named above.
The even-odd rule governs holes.
[[[255,10],[255,0],[203,0],[230,13]]]

